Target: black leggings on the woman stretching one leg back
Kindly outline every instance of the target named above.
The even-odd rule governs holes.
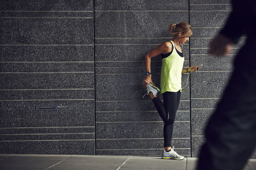
[[[152,101],[164,122],[164,147],[169,147],[172,141],[175,115],[180,104],[180,91],[164,92],[163,97],[164,103],[158,97],[155,97]]]

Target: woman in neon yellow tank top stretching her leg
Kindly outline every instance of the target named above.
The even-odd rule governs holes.
[[[171,24],[169,27],[170,34],[173,36],[172,41],[166,41],[154,48],[145,56],[146,78],[143,83],[146,85],[147,95],[149,95],[156,106],[156,109],[164,122],[164,152],[162,159],[182,160],[180,156],[171,147],[173,123],[180,103],[181,76],[183,73],[195,72],[200,67],[191,66],[184,69],[184,56],[180,44],[184,45],[189,41],[193,34],[191,26],[186,22]],[[152,83],[152,74],[150,61],[152,57],[160,55],[162,57],[161,83],[160,89],[164,102],[162,103],[156,96],[159,89]]]

